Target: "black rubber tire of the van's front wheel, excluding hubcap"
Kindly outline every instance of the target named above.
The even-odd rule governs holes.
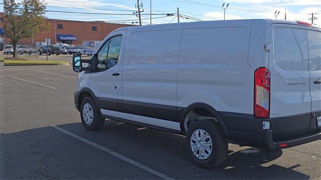
[[[93,109],[93,120],[90,124],[87,124],[83,117],[83,107],[86,103],[89,103],[90,106]],[[81,116],[81,122],[88,130],[99,130],[103,127],[105,118],[100,116],[100,112],[98,111],[98,108],[96,107],[96,104],[94,102],[94,99],[92,97],[85,97],[80,105],[80,116]]]

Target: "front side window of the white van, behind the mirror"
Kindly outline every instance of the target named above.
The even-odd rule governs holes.
[[[97,67],[108,69],[118,62],[122,36],[115,36],[109,39],[98,52]]]

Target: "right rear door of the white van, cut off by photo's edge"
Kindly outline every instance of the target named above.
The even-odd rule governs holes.
[[[321,29],[307,27],[306,34],[309,50],[309,72],[311,76],[310,93],[312,116],[309,131],[314,131],[319,128],[317,118],[321,118]]]

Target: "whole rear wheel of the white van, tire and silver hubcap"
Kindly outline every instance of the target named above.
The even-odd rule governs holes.
[[[186,146],[195,164],[204,168],[218,166],[228,153],[226,138],[213,119],[192,123],[186,134]]]

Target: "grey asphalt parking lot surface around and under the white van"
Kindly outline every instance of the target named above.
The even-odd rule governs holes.
[[[272,152],[229,144],[220,166],[203,169],[182,135],[108,119],[86,130],[70,65],[0,74],[1,179],[321,179],[320,140]]]

